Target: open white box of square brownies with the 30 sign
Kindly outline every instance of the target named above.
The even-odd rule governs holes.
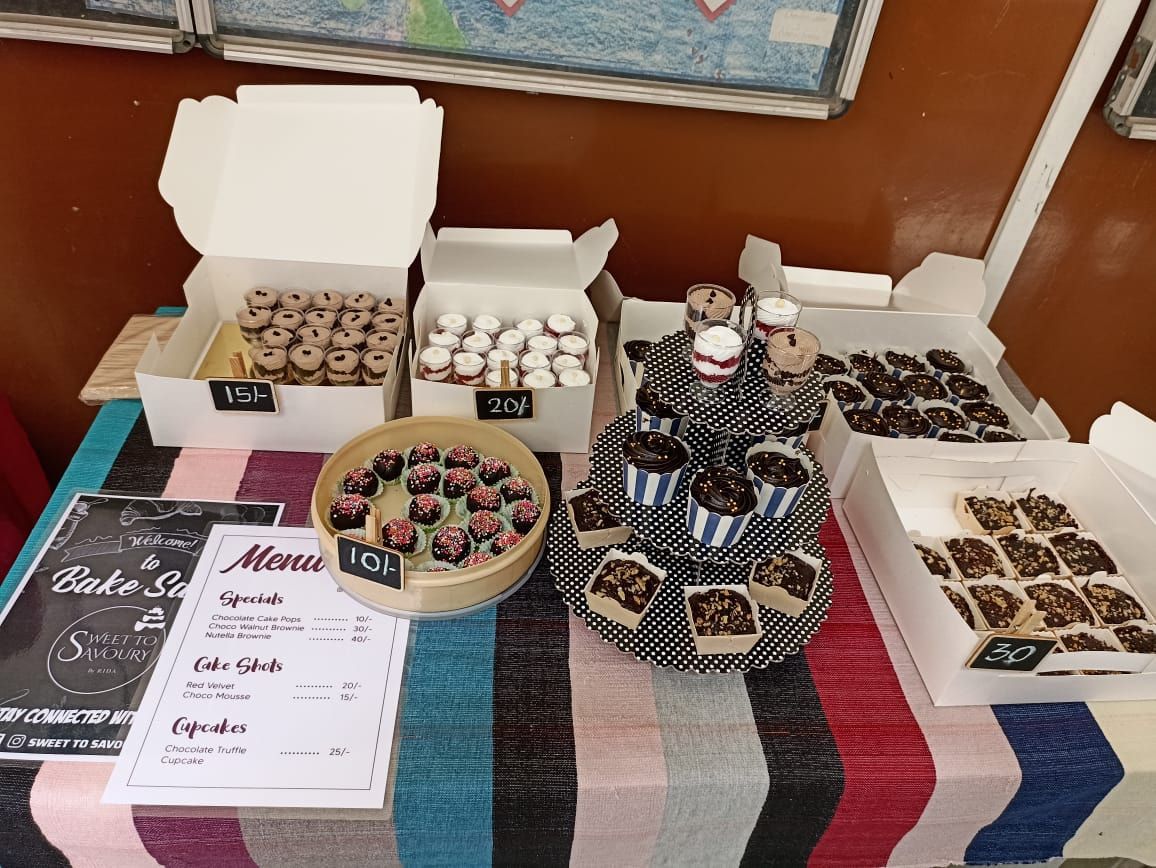
[[[979,637],[924,567],[909,534],[959,533],[961,491],[1040,489],[1062,500],[1116,561],[1146,603],[1156,606],[1156,423],[1116,405],[1092,425],[1091,444],[1028,440],[966,457],[892,455],[868,448],[844,502],[924,684],[936,705],[1156,698],[1156,654],[1052,653],[1036,673],[968,669]],[[1119,675],[1042,677],[1048,670]]]

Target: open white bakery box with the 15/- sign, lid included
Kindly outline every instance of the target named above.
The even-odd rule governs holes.
[[[276,386],[276,414],[217,411],[194,374],[252,287],[406,297],[442,114],[409,87],[246,86],[236,101],[180,102],[160,188],[202,258],[180,325],[136,368],[156,445],[333,452],[392,418],[400,344],[383,386]]]

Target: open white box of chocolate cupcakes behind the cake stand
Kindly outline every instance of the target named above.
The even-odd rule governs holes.
[[[739,258],[739,276],[746,283],[759,287],[781,281],[785,273],[788,291],[803,304],[799,326],[817,334],[824,351],[846,353],[864,347],[919,351],[932,347],[955,349],[972,366],[973,374],[988,386],[991,400],[1007,411],[1024,437],[1043,440],[1068,438],[1067,429],[1046,401],[1040,399],[1035,410],[1029,413],[996,370],[1003,356],[1003,344],[977,316],[986,295],[981,260],[931,253],[894,287],[885,274],[783,267],[780,261],[777,244],[748,236]],[[681,328],[683,307],[675,303],[623,301],[616,371],[623,410],[633,408],[638,378],[630,372],[622,344],[636,339],[657,340]],[[808,438],[808,446],[823,465],[832,497],[846,494],[851,474],[873,442],[883,451],[905,452],[914,440],[872,437],[852,431],[838,407],[830,401],[820,429]],[[958,454],[959,450],[981,450],[1010,455],[1016,446],[928,443],[949,454]],[[1013,448],[1002,448],[1005,446]]]

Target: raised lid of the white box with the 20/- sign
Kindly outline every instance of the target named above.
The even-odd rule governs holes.
[[[551,288],[585,291],[618,240],[608,220],[577,240],[564,229],[425,228],[422,274],[427,283]]]

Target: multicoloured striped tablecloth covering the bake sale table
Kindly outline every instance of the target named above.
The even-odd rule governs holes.
[[[540,458],[563,485],[585,469]],[[323,459],[156,448],[139,402],[106,405],[0,602],[74,489],[283,499],[304,525]],[[543,565],[415,626],[381,810],[102,806],[109,764],[0,761],[0,865],[1156,863],[1156,704],[935,709],[838,503],[822,541],[835,604],[781,666],[638,663]]]

